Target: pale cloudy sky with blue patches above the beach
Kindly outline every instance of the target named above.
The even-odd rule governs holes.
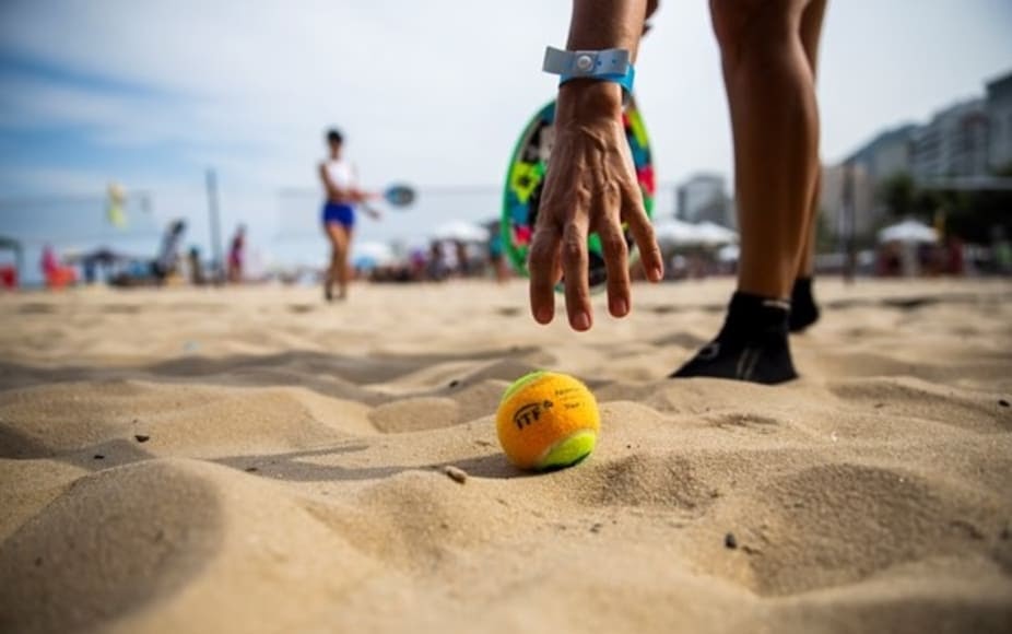
[[[130,236],[183,215],[204,243],[213,167],[226,234],[245,222],[264,251],[285,235],[318,239],[316,164],[330,126],[366,185],[420,188],[416,208],[363,222],[363,239],[494,218],[516,139],[554,94],[541,59],[546,45],[565,45],[569,10],[552,0],[2,0],[0,234],[66,243],[79,232],[81,247],[115,238],[94,204],[39,200],[101,200],[116,180],[153,200],[150,213],[131,209]],[[664,0],[652,23],[636,94],[660,181],[730,177],[708,2]],[[823,158],[982,95],[1012,72],[1009,33],[1008,0],[831,0]],[[292,189],[305,193],[280,193]],[[659,197],[661,213],[671,199]]]

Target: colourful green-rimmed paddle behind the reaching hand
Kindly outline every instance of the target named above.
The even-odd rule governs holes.
[[[517,146],[514,149],[506,174],[506,188],[503,196],[502,235],[514,268],[523,275],[528,275],[527,260],[530,251],[531,237],[538,222],[538,208],[541,202],[541,187],[548,171],[554,140],[555,102],[541,108],[523,128]],[[622,115],[625,126],[625,137],[629,143],[633,164],[636,168],[636,178],[639,190],[643,192],[644,207],[647,214],[654,212],[654,193],[656,189],[654,179],[654,162],[650,155],[650,141],[643,118],[636,108],[636,102],[629,99]],[[629,257],[637,257],[635,244],[628,231],[625,232],[625,242],[629,246]],[[608,279],[604,268],[604,258],[601,250],[601,238],[592,233],[587,239],[589,270],[588,278],[591,289],[601,289]]]

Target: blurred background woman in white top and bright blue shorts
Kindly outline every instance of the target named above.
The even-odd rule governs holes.
[[[338,298],[348,296],[348,281],[350,269],[348,257],[351,253],[352,234],[355,227],[355,206],[366,202],[376,195],[358,189],[354,167],[341,157],[341,146],[344,142],[341,132],[330,130],[327,132],[327,144],[330,148],[330,158],[320,163],[320,180],[323,183],[323,193],[327,202],[323,203],[322,222],[323,232],[330,240],[330,268],[323,282],[323,296],[330,302],[333,298],[333,284],[338,283]],[[373,218],[379,214],[363,207]]]

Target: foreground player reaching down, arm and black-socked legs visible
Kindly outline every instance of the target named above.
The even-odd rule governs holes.
[[[810,243],[819,178],[815,58],[825,8],[826,0],[710,0],[734,140],[741,259],[723,328],[673,377],[764,384],[797,377],[788,331],[819,317]],[[655,0],[575,0],[567,48],[625,49],[635,60],[656,9]],[[555,144],[530,251],[531,313],[541,324],[554,316],[554,289],[565,273],[569,325],[590,329],[589,231],[604,247],[614,317],[632,307],[623,223],[647,278],[663,278],[622,104],[623,89],[613,81],[578,78],[558,89]]]

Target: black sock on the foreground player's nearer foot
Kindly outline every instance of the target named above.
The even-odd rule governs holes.
[[[717,338],[671,377],[713,376],[770,385],[797,378],[787,341],[789,314],[787,302],[734,293]]]

